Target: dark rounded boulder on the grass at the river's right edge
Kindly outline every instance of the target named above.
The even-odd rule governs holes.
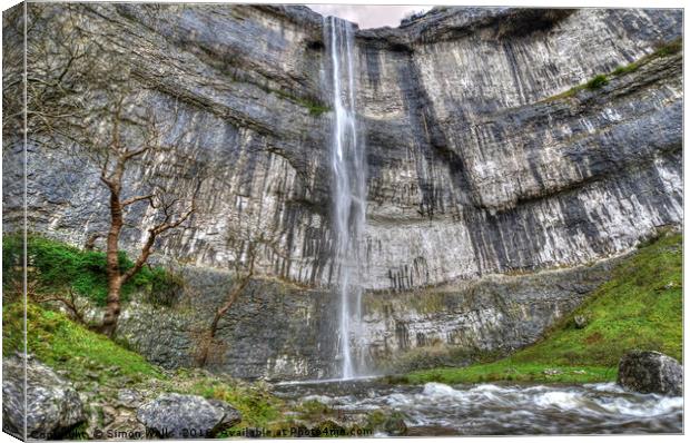
[[[618,384],[644,394],[683,394],[683,367],[654,351],[630,351],[618,365]]]

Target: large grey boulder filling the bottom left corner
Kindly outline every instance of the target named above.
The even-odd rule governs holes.
[[[50,367],[29,356],[27,360],[27,434],[30,439],[65,436],[85,421],[79,394]],[[23,357],[2,360],[2,430],[23,439]]]

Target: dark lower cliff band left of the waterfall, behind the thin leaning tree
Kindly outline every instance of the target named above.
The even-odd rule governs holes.
[[[187,268],[174,307],[128,306],[118,337],[165,367],[194,366],[199,337],[233,287],[231,273]],[[274,279],[249,284],[218,324],[208,368],[243,378],[319,378],[335,374],[337,306],[327,291]]]

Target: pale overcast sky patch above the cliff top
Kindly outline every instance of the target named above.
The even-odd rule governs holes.
[[[359,24],[359,29],[396,28],[402,18],[411,12],[427,11],[430,6],[357,6],[357,4],[307,4],[323,16],[335,16]]]

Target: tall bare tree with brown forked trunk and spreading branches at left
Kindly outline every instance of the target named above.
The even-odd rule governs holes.
[[[189,186],[171,186],[155,175],[142,177],[147,167],[179,163],[184,145],[191,142],[179,122],[179,104],[161,117],[155,95],[134,78],[127,50],[108,36],[89,31],[82,13],[72,6],[32,6],[37,31],[29,48],[28,126],[33,141],[49,149],[72,149],[73,161],[96,168],[107,189],[108,296],[97,328],[111,336],[122,286],[147,264],[161,236],[190,222],[203,174],[198,163],[187,158],[180,166],[187,168]],[[122,269],[119,243],[130,225],[146,235],[134,266]]]

